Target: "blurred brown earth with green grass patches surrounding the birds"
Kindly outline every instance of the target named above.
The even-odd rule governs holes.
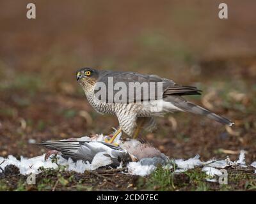
[[[200,154],[204,161],[226,156],[236,160],[239,150],[244,149],[246,163],[256,161],[253,6],[243,5],[244,12],[239,3],[230,3],[230,18],[220,22],[211,9],[216,6],[213,3],[201,3],[204,11],[198,10],[196,3],[164,4],[148,3],[147,8],[111,4],[105,10],[91,2],[81,7],[86,9],[84,16],[78,4],[56,3],[50,11],[47,4],[38,3],[41,15],[36,23],[17,18],[26,8],[20,10],[21,3],[12,15],[1,11],[0,156],[42,155],[45,149],[31,144],[31,139],[41,142],[111,133],[111,127],[118,126],[115,117],[96,113],[76,82],[76,69],[93,66],[154,73],[178,84],[196,85],[202,96],[187,99],[236,124],[227,129],[189,113],[161,117],[158,129],[143,136],[166,156],[188,159]],[[60,5],[67,15],[53,16]],[[6,6],[13,5],[6,1]],[[88,6],[95,10],[88,10]],[[124,13],[120,8],[125,8]],[[180,15],[184,9],[185,17]],[[99,10],[101,15],[97,15]],[[128,18],[130,11],[133,20]],[[86,27],[81,26],[83,22]],[[60,168],[45,170],[38,175],[36,186],[29,186],[14,170],[0,175],[0,190],[255,190],[256,177],[250,168],[228,169],[228,173],[228,185],[223,186],[206,182],[198,169],[173,175],[159,167],[142,178],[109,169],[79,174]]]

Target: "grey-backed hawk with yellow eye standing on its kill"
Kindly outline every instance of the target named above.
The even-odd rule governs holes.
[[[138,136],[141,128],[152,131],[156,127],[154,117],[170,112],[190,112],[204,115],[228,126],[233,124],[229,119],[182,98],[186,95],[200,94],[201,91],[196,87],[179,85],[173,80],[157,75],[81,68],[77,70],[76,78],[90,105],[97,112],[116,115],[119,128],[113,138],[106,141],[109,143],[113,143],[121,131],[128,136],[134,136],[134,138]],[[121,84],[128,88],[122,89]],[[99,85],[101,85],[100,88]],[[131,85],[133,85],[132,89],[139,88],[132,91]],[[147,88],[144,85],[147,85]],[[103,88],[106,88],[105,93],[100,92]],[[144,94],[145,90],[146,94]],[[142,92],[143,94],[141,94]],[[122,96],[122,99],[115,96]]]

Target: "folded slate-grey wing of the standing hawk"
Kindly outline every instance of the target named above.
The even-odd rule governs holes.
[[[127,72],[121,72],[121,71],[102,71],[102,73],[99,76],[99,79],[97,82],[104,83],[107,87],[107,93],[106,97],[100,98],[100,100],[104,102],[110,102],[109,101],[109,92],[108,92],[108,87],[109,87],[109,77],[113,78],[113,84],[115,85],[117,82],[123,82],[126,87],[129,87],[129,82],[139,82],[140,84],[147,84],[147,89],[148,94],[143,94],[143,86],[140,86],[139,88],[139,93],[140,93],[140,101],[149,101],[152,99],[161,99],[164,98],[168,95],[191,95],[191,94],[200,94],[200,90],[196,89],[196,87],[191,87],[191,86],[182,86],[178,85],[172,80],[166,79],[166,78],[161,78],[157,75],[143,75],[140,73],[135,73],[131,71]],[[150,83],[154,82],[155,85],[152,87],[150,86]],[[157,83],[161,83],[162,87],[160,89],[157,89]],[[138,89],[138,87],[137,87]],[[113,96],[117,92],[121,90],[115,90],[113,89]],[[95,93],[98,91],[98,89],[95,89]],[[159,93],[160,91],[160,93]],[[124,103],[131,103],[136,101],[136,91],[130,92],[129,89],[127,89],[127,94],[126,98],[124,100]],[[116,103],[116,101],[113,101],[113,103]],[[117,103],[120,103],[118,101]],[[122,102],[121,102],[122,103]]]

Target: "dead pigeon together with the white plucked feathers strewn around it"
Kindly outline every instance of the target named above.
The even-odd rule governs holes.
[[[246,152],[244,152],[244,150],[241,150],[237,161],[230,161],[227,157],[227,159],[211,159],[204,162],[200,161],[199,155],[187,160],[169,159],[148,143],[139,142],[138,140],[128,140],[124,142],[120,140],[120,136],[115,140],[116,143],[119,143],[118,147],[112,147],[113,145],[104,143],[103,141],[106,136],[103,135],[95,135],[93,137],[84,136],[74,141],[42,142],[41,144],[44,147],[48,146],[49,149],[61,150],[61,155],[57,156],[58,165],[66,166],[67,171],[76,171],[77,173],[97,170],[97,168],[102,166],[111,166],[112,168],[122,168],[126,166],[130,175],[140,175],[144,177],[156,170],[157,165],[161,164],[164,168],[170,170],[172,170],[175,165],[175,173],[184,172],[193,168],[201,168],[210,178],[213,178],[208,179],[209,181],[216,182],[214,177],[220,176],[222,174],[220,170],[223,168],[227,168],[228,166],[247,167],[245,163]],[[68,145],[70,145],[70,147],[68,147]],[[81,147],[83,151],[79,150]],[[70,150],[70,152],[68,152],[68,150]],[[6,158],[0,157],[0,173],[3,173],[1,171],[4,170],[4,167],[8,164],[17,166],[22,175],[29,175],[31,173],[38,174],[40,173],[40,167],[58,168],[56,163],[52,163],[51,157],[46,161],[44,157],[45,154],[33,158],[20,156],[20,160],[12,155]],[[124,157],[125,159],[118,157]],[[256,169],[256,161],[250,164],[250,166]]]

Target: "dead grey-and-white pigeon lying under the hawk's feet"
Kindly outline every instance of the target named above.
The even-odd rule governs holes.
[[[69,138],[67,140],[47,141],[36,145],[49,149],[45,154],[45,161],[52,155],[61,155],[65,159],[73,161],[83,160],[92,163],[97,154],[102,154],[111,160],[110,166],[116,168],[121,163],[140,161],[142,165],[167,164],[168,157],[161,153],[152,144],[138,138],[138,140],[121,140],[122,134],[116,137],[118,147],[104,141],[105,136],[93,135],[92,137]],[[99,161],[100,162],[100,161]]]

